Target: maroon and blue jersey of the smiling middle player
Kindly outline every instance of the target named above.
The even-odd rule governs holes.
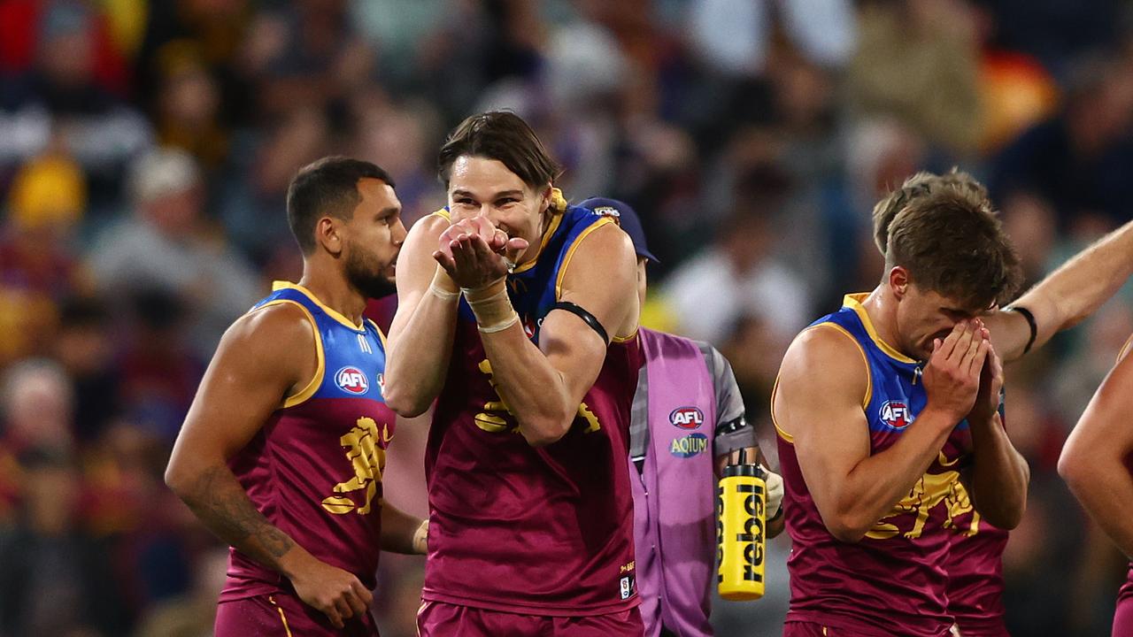
[[[569,206],[538,258],[509,275],[538,342],[573,247],[611,220]],[[533,448],[495,390],[461,300],[453,353],[425,452],[429,493],[426,601],[542,615],[594,615],[638,604],[630,493],[630,406],[641,353],[615,339],[570,431]]]

